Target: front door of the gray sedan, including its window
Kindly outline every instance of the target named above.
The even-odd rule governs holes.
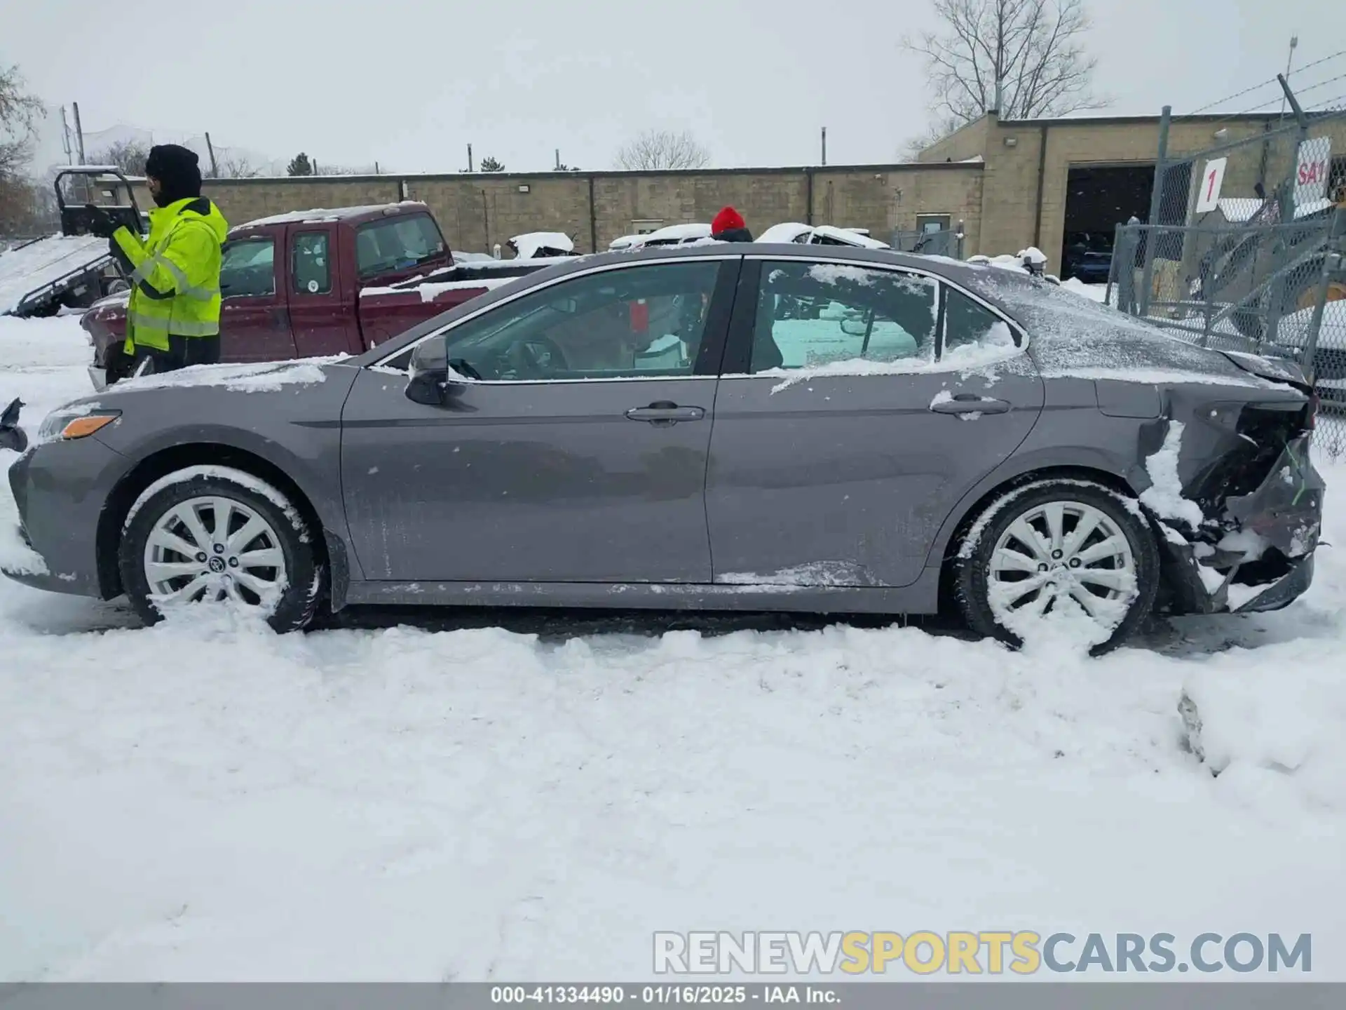
[[[709,582],[705,467],[738,257],[623,264],[446,334],[444,407],[384,369],[342,415],[366,579]]]

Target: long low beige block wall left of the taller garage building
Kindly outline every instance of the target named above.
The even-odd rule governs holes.
[[[902,164],[704,172],[320,176],[210,179],[205,194],[230,225],[291,210],[424,201],[454,249],[490,252],[522,232],[564,232],[581,252],[606,249],[634,221],[708,222],[730,205],[760,233],[783,221],[867,228],[887,240],[918,214],[980,232],[980,164]],[[526,193],[521,191],[526,187]]]

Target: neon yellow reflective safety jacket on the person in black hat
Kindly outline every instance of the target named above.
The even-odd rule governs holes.
[[[219,246],[229,224],[205,197],[149,211],[149,236],[118,228],[109,245],[131,279],[125,353],[168,350],[168,337],[219,333]]]

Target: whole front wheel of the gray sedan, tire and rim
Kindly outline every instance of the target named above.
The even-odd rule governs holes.
[[[299,510],[242,470],[192,466],[152,483],[122,525],[121,584],[152,625],[188,603],[230,602],[277,632],[307,628],[326,571]]]

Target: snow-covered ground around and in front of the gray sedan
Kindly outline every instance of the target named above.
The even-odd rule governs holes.
[[[35,423],[86,357],[74,319],[0,319],[0,405]],[[654,931],[1007,928],[1308,932],[1346,979],[1346,562],[1318,559],[1281,613],[1101,660],[898,626],[145,630],[0,580],[0,982],[642,979]]]

